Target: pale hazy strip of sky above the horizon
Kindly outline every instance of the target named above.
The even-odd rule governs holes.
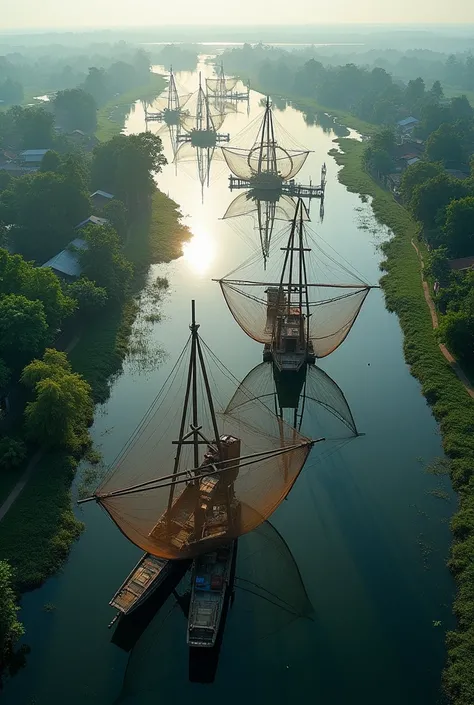
[[[0,0],[2,29],[474,23],[473,0]]]

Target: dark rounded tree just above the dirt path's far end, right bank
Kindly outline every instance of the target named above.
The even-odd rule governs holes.
[[[445,173],[440,174],[415,187],[410,208],[425,228],[433,228],[439,212],[451,201],[464,198],[467,193],[468,187],[462,181]]]

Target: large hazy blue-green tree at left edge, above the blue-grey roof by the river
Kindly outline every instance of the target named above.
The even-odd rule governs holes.
[[[0,220],[16,226],[16,249],[40,263],[63,249],[88,215],[88,194],[60,174],[22,176],[0,195]]]

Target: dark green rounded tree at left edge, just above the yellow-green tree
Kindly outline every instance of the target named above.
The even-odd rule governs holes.
[[[46,345],[48,324],[41,301],[10,294],[0,297],[0,355],[18,366]]]

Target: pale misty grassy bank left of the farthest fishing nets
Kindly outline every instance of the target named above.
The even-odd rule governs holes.
[[[153,100],[166,86],[166,80],[158,73],[150,74],[150,81],[127,93],[122,93],[103,105],[97,114],[96,137],[105,142],[122,132],[132,103],[136,100]]]

